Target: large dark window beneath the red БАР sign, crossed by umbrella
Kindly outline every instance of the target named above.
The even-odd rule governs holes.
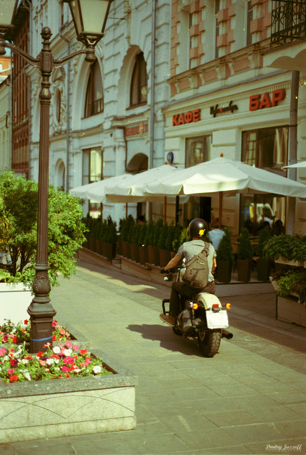
[[[265,128],[242,133],[241,160],[250,166],[284,175],[287,163],[288,127]],[[243,194],[240,197],[240,229],[246,227],[257,235],[265,225],[271,234],[285,225],[286,197],[273,194]],[[278,229],[279,230],[279,229]]]

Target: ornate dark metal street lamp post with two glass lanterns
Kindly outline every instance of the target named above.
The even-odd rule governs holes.
[[[44,345],[52,345],[52,322],[56,315],[49,293],[48,278],[48,186],[49,186],[49,112],[51,92],[49,78],[54,68],[59,68],[74,57],[86,54],[85,60],[94,62],[94,47],[103,38],[107,16],[113,0],[63,0],[69,4],[77,39],[86,45],[86,49],[68,55],[60,60],[53,57],[50,50],[52,33],[43,27],[42,49],[38,58],[31,57],[14,44],[5,42],[13,27],[14,14],[18,0],[0,0],[0,55],[5,55],[5,47],[20,55],[41,73],[40,100],[40,135],[39,135],[39,173],[38,173],[38,218],[37,218],[37,253],[33,292],[35,294],[28,313],[31,320],[30,352],[44,350]],[[102,24],[102,26],[101,26]]]

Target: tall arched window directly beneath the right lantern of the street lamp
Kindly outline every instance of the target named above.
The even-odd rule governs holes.
[[[103,112],[103,85],[98,61],[90,66],[89,79],[86,90],[85,117]]]

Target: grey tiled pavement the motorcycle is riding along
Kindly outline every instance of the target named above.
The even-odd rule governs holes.
[[[234,338],[207,359],[159,320],[169,288],[81,264],[52,291],[56,318],[138,375],[137,427],[8,441],[0,454],[305,454],[306,328],[276,321],[272,289],[259,292],[221,297],[233,305]]]

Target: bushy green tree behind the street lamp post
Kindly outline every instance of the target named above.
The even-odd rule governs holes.
[[[86,226],[80,199],[49,185],[48,263],[50,283],[58,273],[75,273],[75,251],[82,247]],[[0,281],[31,284],[35,276],[38,184],[16,176],[0,175],[0,250],[8,251],[11,267],[0,269]]]

